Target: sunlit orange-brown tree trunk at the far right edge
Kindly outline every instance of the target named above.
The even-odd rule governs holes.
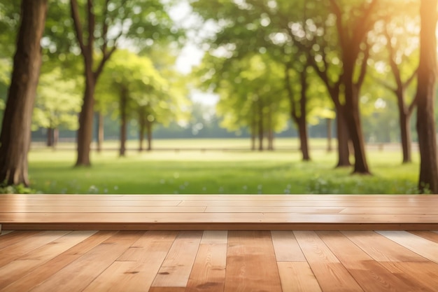
[[[420,178],[422,193],[438,193],[437,132],[434,99],[437,76],[437,0],[421,1],[420,64],[418,65],[417,132],[420,147]]]

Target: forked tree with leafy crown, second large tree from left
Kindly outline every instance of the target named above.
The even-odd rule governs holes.
[[[71,0],[71,17],[76,39],[83,55],[85,92],[79,115],[78,158],[76,166],[90,165],[90,144],[94,116],[94,90],[106,62],[120,46],[120,41],[132,40],[137,47],[151,46],[158,39],[178,37],[172,34],[171,21],[157,0],[104,1],[94,6],[87,0],[86,15],[80,15],[77,0]],[[82,16],[82,17],[81,17]],[[81,19],[83,21],[81,21]],[[141,39],[140,43],[134,40]],[[100,60],[97,64],[96,53]]]

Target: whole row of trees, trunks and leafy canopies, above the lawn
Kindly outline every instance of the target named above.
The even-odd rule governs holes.
[[[0,179],[28,183],[32,127],[48,144],[76,130],[76,166],[91,165],[93,131],[99,150],[111,117],[120,155],[129,125],[139,150],[155,125],[196,136],[218,122],[262,151],[293,123],[310,160],[309,125],[325,124],[337,166],[360,174],[370,174],[366,141],[400,140],[410,162],[414,137],[419,188],[437,193],[436,2],[188,0],[189,26],[169,16],[173,0],[2,3]],[[184,75],[174,64],[188,39],[205,55]],[[220,96],[217,116],[199,118],[192,88]]]

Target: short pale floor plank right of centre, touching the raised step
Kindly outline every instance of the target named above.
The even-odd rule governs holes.
[[[305,262],[306,258],[301,251],[297,239],[292,231],[271,231],[272,243],[278,262]]]

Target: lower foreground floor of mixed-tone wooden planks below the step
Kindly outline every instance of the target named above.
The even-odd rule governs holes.
[[[438,290],[432,231],[4,231],[1,292]]]

